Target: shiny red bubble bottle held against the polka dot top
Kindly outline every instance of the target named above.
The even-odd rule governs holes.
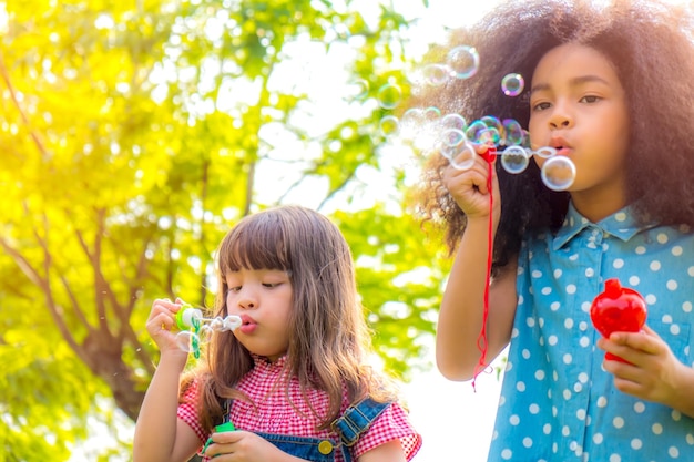
[[[646,301],[636,290],[622,287],[619,279],[608,279],[605,290],[591,305],[591,321],[604,338],[612,332],[639,332],[646,321]],[[605,359],[629,362],[609,352]]]

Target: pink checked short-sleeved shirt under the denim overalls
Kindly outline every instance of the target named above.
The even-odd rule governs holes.
[[[285,357],[272,363],[263,358],[255,358],[255,367],[238,382],[237,389],[246,393],[257,409],[248,402],[234,400],[229,412],[234,427],[252,432],[337,439],[330,429],[317,429],[319,421],[304,400],[296,378],[289,380],[288,396],[285,387],[277,386],[283,383],[282,368],[285,361]],[[196,402],[197,392],[197,387],[193,383],[185,393],[185,398],[191,403],[181,404],[177,414],[178,419],[187,423],[204,443],[210,434],[201,428],[195,405],[192,404]],[[328,396],[324,391],[308,390],[307,399],[318,415],[327,413]],[[344,412],[348,407],[349,402],[345,396],[341,411]],[[421,435],[409,423],[407,413],[398,403],[392,403],[359,438],[353,448],[353,455],[357,459],[365,452],[396,439],[400,440],[408,461],[421,446]],[[335,461],[344,462],[340,451],[336,452]]]

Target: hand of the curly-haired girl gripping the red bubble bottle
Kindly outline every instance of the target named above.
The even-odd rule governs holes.
[[[613,332],[598,347],[631,362],[605,361],[614,387],[646,401],[694,414],[694,369],[683,365],[665,341],[647,326],[641,332]]]

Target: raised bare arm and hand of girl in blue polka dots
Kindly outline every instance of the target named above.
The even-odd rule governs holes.
[[[482,156],[478,156],[474,165],[467,171],[447,167],[442,179],[466,214],[467,225],[441,300],[436,359],[439,371],[449,380],[469,380],[474,376],[481,355],[478,337],[484,319],[488,253],[493,247],[489,237],[490,234],[493,236],[499,225],[501,197],[496,171]],[[491,208],[490,195],[493,198]],[[491,233],[489,226],[492,226]],[[489,290],[487,361],[506,347],[511,336],[517,301],[517,265],[513,260],[502,268]]]

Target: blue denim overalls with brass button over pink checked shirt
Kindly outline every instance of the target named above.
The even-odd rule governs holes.
[[[226,407],[231,404],[227,401]],[[287,454],[312,462],[334,462],[335,452],[341,451],[345,462],[353,462],[349,448],[356,444],[359,437],[366,432],[380,413],[390,405],[367,398],[347,408],[345,413],[335,419],[330,428],[339,435],[337,439],[320,439],[307,437],[289,437],[276,433],[256,433]],[[228,421],[228,412],[225,412],[224,421]]]

